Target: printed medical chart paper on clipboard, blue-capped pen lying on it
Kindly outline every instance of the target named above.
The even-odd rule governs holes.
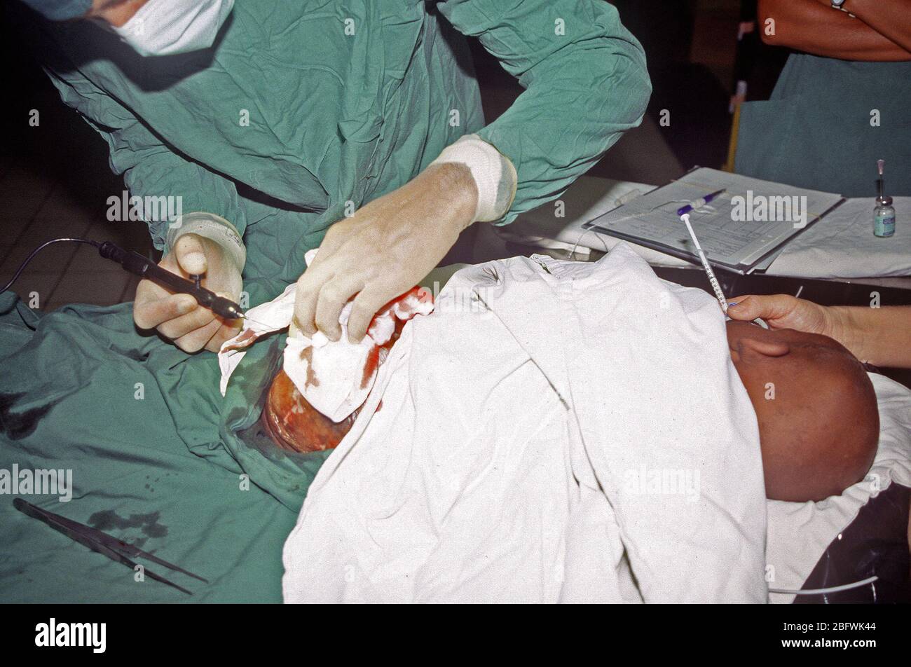
[[[698,263],[677,210],[722,188],[726,191],[711,203],[691,211],[690,221],[709,262],[738,273],[766,268],[787,241],[844,201],[830,192],[701,167],[583,228]]]

